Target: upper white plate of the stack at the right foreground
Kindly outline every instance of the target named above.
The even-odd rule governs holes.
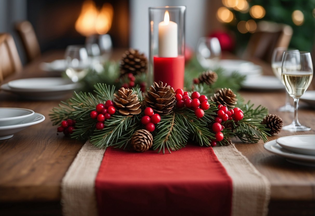
[[[283,148],[298,154],[315,156],[315,135],[294,135],[276,139]]]

